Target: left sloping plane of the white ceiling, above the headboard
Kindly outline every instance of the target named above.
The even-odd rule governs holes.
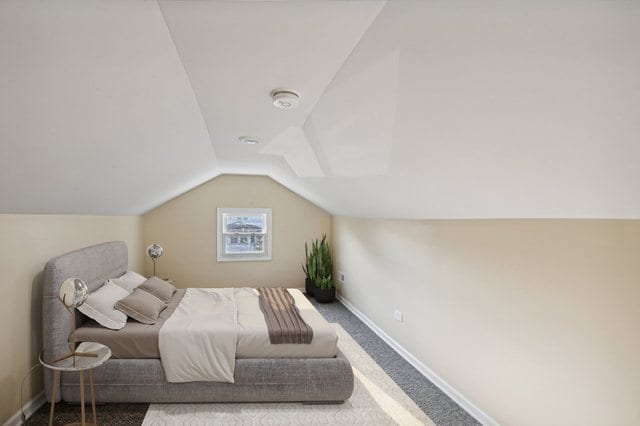
[[[155,2],[0,2],[0,211],[136,214],[215,176]]]

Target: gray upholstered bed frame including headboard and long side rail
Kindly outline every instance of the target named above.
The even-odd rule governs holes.
[[[82,279],[90,291],[128,269],[127,246],[113,241],[50,260],[44,269],[43,345],[47,359],[68,351],[72,318],[57,299],[66,278]],[[53,374],[45,369],[45,394],[51,400]],[[344,355],[336,358],[238,359],[235,383],[168,383],[159,359],[110,359],[94,370],[97,402],[334,402],[353,392],[353,372]],[[80,401],[77,373],[63,372],[56,400]],[[87,392],[88,397],[88,390]],[[57,402],[56,401],[56,402]]]

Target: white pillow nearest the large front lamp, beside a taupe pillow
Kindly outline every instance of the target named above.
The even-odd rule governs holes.
[[[103,327],[120,330],[127,323],[127,316],[114,306],[118,300],[128,295],[127,290],[107,281],[102,287],[89,294],[78,310]]]

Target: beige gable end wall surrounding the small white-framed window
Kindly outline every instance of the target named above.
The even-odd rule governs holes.
[[[271,208],[273,260],[217,262],[218,207]],[[222,175],[144,215],[145,244],[165,250],[157,275],[178,287],[302,287],[304,242],[330,231],[327,212],[265,176]]]

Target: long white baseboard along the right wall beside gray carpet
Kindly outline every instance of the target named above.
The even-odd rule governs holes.
[[[449,398],[455,401],[459,406],[472,415],[477,421],[485,426],[495,426],[499,423],[492,419],[488,414],[480,410],[475,404],[464,397],[453,386],[445,382],[440,376],[438,376],[433,370],[424,365],[420,360],[413,356],[408,350],[406,350],[400,343],[396,342],[391,336],[385,333],[380,327],[378,327],[373,321],[371,321],[365,314],[360,312],[358,308],[353,306],[351,302],[342,297],[341,294],[336,294],[337,299],[355,316],[357,316],[362,322],[364,322],[374,333],[376,333],[382,340],[384,340],[389,346],[391,346],[398,354],[404,358],[409,364],[411,364],[416,370],[418,370],[423,376],[436,385],[442,392],[444,392]]]

